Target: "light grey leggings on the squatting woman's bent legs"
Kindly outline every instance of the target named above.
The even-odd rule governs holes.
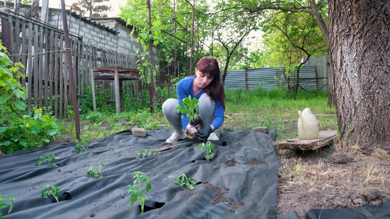
[[[163,103],[163,113],[175,132],[180,133],[183,130],[183,126],[181,125],[180,111],[176,110],[178,106],[180,104],[177,99],[169,98]],[[198,113],[204,127],[209,126],[214,121],[214,110],[215,102],[206,93],[202,94],[199,98]]]

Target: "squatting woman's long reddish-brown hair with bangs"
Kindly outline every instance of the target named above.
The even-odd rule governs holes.
[[[204,91],[213,101],[218,99],[223,106],[223,110],[225,110],[225,90],[223,90],[221,72],[216,58],[203,57],[195,65],[195,68],[203,74],[209,74],[210,77],[214,78],[209,86],[204,88]]]

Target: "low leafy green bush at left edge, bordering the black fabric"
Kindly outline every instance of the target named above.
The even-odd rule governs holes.
[[[19,122],[0,127],[0,151],[6,154],[41,147],[61,134],[62,125],[50,114],[43,114],[43,109],[34,111],[34,116],[23,115]]]

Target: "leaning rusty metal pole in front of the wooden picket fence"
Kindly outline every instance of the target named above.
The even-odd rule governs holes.
[[[72,97],[72,106],[74,113],[74,122],[76,123],[76,138],[80,140],[80,119],[78,117],[78,106],[76,99],[76,86],[74,86],[74,76],[73,76],[73,64],[72,64],[72,54],[69,51],[70,39],[69,39],[69,30],[68,24],[66,20],[66,9],[65,9],[65,0],[61,0],[61,13],[62,13],[62,24],[64,25],[64,37],[65,37],[65,48],[66,48],[66,59],[68,63],[68,71],[69,71],[69,85],[71,88],[71,97]]]

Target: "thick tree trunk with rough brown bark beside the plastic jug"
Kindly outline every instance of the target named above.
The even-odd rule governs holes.
[[[329,0],[328,52],[342,140],[390,152],[390,4]]]

